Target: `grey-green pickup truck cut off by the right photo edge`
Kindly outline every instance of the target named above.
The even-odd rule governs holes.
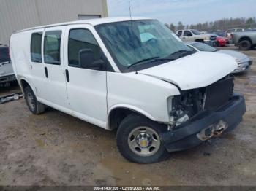
[[[250,50],[256,46],[256,31],[233,33],[232,40],[240,50]]]

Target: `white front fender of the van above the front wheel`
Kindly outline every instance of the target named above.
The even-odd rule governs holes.
[[[179,94],[177,87],[154,77],[108,72],[108,114],[124,106],[151,120],[168,122],[167,98]]]

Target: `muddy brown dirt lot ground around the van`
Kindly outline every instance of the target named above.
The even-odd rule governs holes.
[[[256,50],[245,53],[254,64],[236,75],[235,88],[246,98],[244,121],[162,163],[129,163],[116,132],[54,109],[35,116],[23,99],[0,105],[0,185],[256,185]]]

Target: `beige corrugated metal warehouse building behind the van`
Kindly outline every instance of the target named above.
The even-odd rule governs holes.
[[[0,44],[23,28],[95,17],[108,17],[107,0],[0,0]]]

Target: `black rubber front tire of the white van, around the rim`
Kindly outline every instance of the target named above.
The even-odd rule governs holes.
[[[158,136],[159,133],[167,130],[167,126],[165,125],[151,121],[139,114],[130,114],[121,122],[116,134],[117,147],[121,152],[121,155],[134,163],[157,163],[159,161],[165,160],[169,156],[169,153],[165,149],[160,139],[159,149],[154,153],[154,155],[140,156],[133,152],[132,149],[130,149],[128,144],[129,134],[132,132],[132,130],[135,130],[138,127],[150,128],[154,130],[154,132],[158,133]]]

